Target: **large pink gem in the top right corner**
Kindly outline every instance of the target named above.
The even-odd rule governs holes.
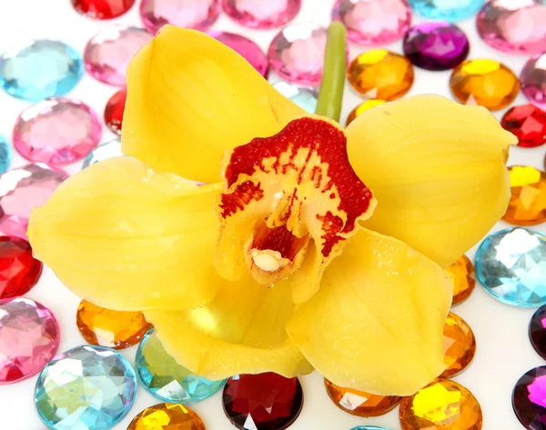
[[[509,54],[546,51],[543,0],[491,0],[476,18],[478,33],[491,47]]]

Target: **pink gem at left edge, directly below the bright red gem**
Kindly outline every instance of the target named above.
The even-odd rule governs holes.
[[[0,300],[0,385],[40,372],[60,340],[56,318],[45,306],[25,297]]]

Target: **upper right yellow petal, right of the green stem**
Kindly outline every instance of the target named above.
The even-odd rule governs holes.
[[[506,212],[504,158],[517,139],[484,107],[416,95],[359,115],[346,134],[349,160],[379,202],[362,224],[442,267]]]

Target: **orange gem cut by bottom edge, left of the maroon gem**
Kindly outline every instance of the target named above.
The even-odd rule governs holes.
[[[185,405],[162,403],[136,415],[127,430],[206,430],[194,411]]]

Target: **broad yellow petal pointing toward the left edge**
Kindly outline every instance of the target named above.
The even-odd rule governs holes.
[[[212,261],[218,191],[112,158],[59,186],[33,211],[28,236],[35,255],[96,305],[203,305],[226,284]]]

